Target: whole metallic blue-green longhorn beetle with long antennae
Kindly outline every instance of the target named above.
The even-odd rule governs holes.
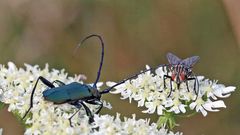
[[[122,81],[120,81],[119,83],[113,85],[112,87],[109,87],[103,91],[98,91],[97,90],[97,82],[99,81],[100,78],[100,74],[101,74],[101,69],[102,69],[102,65],[103,65],[103,58],[104,58],[104,42],[101,38],[101,36],[93,34],[93,35],[89,35],[87,37],[85,37],[81,43],[77,46],[77,48],[75,49],[75,53],[77,51],[77,49],[89,38],[91,37],[97,37],[100,42],[101,42],[101,46],[102,46],[102,53],[101,53],[101,61],[100,61],[100,66],[97,72],[97,78],[93,84],[93,86],[90,86],[88,84],[81,84],[78,82],[72,82],[70,84],[65,84],[64,82],[61,82],[59,80],[55,80],[53,82],[48,81],[47,79],[45,79],[42,76],[39,76],[31,93],[31,98],[30,98],[30,107],[28,108],[27,112],[24,114],[23,118],[24,119],[27,114],[30,112],[31,108],[33,107],[33,96],[34,96],[34,92],[36,90],[37,84],[39,82],[39,80],[45,84],[46,86],[48,86],[49,88],[43,91],[43,97],[44,100],[53,102],[55,104],[64,104],[64,103],[68,103],[70,105],[73,105],[74,107],[76,107],[78,110],[69,118],[69,123],[70,126],[72,126],[71,123],[71,119],[73,118],[74,115],[76,115],[80,108],[83,107],[86,111],[87,116],[89,117],[89,123],[92,123],[94,121],[93,119],[93,114],[91,112],[91,110],[86,106],[85,103],[88,104],[93,104],[93,105],[99,105],[98,110],[95,112],[96,114],[98,114],[102,107],[103,107],[103,103],[101,102],[101,95],[105,94],[105,93],[109,93],[109,91],[111,89],[113,89],[114,87],[124,83],[127,80],[133,79],[135,77],[137,77],[138,74],[133,75],[127,79],[124,79]],[[148,70],[143,71],[147,72]],[[141,73],[139,73],[141,74]],[[54,83],[56,83],[58,85],[58,87],[54,86]]]

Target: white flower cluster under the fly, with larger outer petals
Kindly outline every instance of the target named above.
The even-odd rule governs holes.
[[[146,66],[150,69],[149,66]],[[198,95],[193,90],[194,80],[188,81],[189,91],[186,83],[181,83],[180,88],[172,82],[172,92],[170,88],[170,80],[166,79],[166,88],[164,88],[163,76],[166,75],[166,67],[159,67],[155,73],[150,71],[138,75],[137,78],[126,81],[125,83],[115,87],[115,91],[111,93],[121,93],[122,99],[129,98],[138,102],[138,106],[145,106],[147,110],[144,113],[157,112],[158,115],[164,115],[164,112],[173,112],[175,114],[186,113],[186,110],[194,110],[201,112],[203,116],[207,115],[207,111],[216,112],[218,108],[226,108],[224,102],[219,98],[226,98],[235,90],[235,87],[225,87],[217,84],[217,81],[204,79],[203,76],[197,76],[199,82]],[[113,86],[115,82],[107,82],[108,86]],[[171,95],[169,95],[171,93]]]

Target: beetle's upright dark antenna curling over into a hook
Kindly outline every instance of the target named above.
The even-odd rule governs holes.
[[[98,80],[100,79],[100,75],[101,75],[101,70],[102,70],[102,65],[103,65],[103,58],[104,58],[104,42],[103,42],[103,39],[101,36],[99,35],[96,35],[96,34],[92,34],[92,35],[89,35],[87,37],[85,37],[76,47],[76,49],[74,50],[74,55],[76,54],[78,48],[89,38],[91,37],[97,37],[100,41],[101,41],[101,45],[102,45],[102,54],[101,54],[101,61],[100,61],[100,65],[99,65],[99,68],[98,68],[98,72],[97,72],[97,78],[96,78],[96,81],[94,82],[93,84],[93,87],[97,88],[97,82]]]

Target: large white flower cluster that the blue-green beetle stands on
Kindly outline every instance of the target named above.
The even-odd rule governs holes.
[[[30,105],[30,96],[34,84],[39,76],[43,76],[49,81],[60,80],[66,84],[70,82],[80,82],[85,78],[82,75],[68,77],[64,70],[49,70],[48,65],[44,69],[39,66],[25,64],[26,69],[17,68],[14,63],[9,62],[8,67],[0,65],[0,101],[8,104],[8,111],[24,115]],[[99,85],[98,85],[99,86]],[[156,124],[149,124],[149,120],[136,120],[125,118],[121,121],[119,115],[114,117],[109,115],[94,115],[92,124],[88,123],[88,117],[82,109],[78,115],[72,118],[72,127],[69,123],[69,117],[77,110],[69,104],[55,105],[45,101],[42,92],[47,89],[43,83],[39,83],[33,98],[33,108],[30,117],[26,118],[27,129],[24,134],[43,134],[43,135],[75,135],[75,134],[160,134],[173,135],[167,129],[157,129]],[[105,107],[111,107],[109,103],[104,102]],[[95,112],[97,106],[88,105],[90,110]],[[181,133],[176,133],[180,135]]]

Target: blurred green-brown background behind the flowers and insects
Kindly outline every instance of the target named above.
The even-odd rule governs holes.
[[[75,58],[72,52],[89,34],[99,34],[105,41],[105,61],[101,81],[119,81],[145,68],[167,63],[166,53],[181,58],[198,55],[194,67],[199,75],[219,83],[239,87],[240,46],[222,1],[218,0],[1,0],[0,63],[13,61],[44,67],[65,68],[69,75],[85,74],[87,82],[96,77],[100,46],[96,39],[86,42]],[[104,95],[113,109],[102,114],[137,118],[144,108],[129,104],[119,95]],[[237,135],[240,133],[240,97],[238,89],[224,99],[227,109],[179,119],[176,131],[185,135]],[[23,134],[22,126],[0,111],[4,135]]]

